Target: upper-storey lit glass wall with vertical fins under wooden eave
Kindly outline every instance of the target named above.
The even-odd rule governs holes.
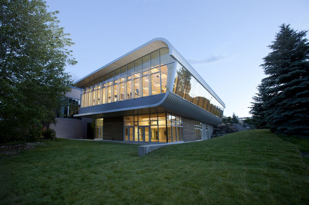
[[[169,49],[160,48],[121,66],[82,86],[82,107],[165,93],[174,62]]]

